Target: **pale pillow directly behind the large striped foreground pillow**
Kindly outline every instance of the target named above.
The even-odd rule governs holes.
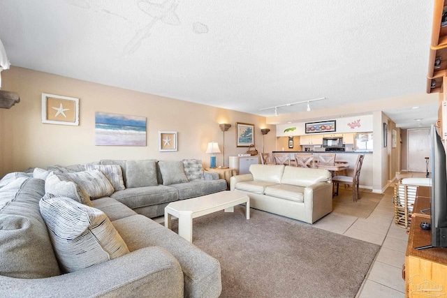
[[[45,193],[61,195],[62,197],[68,197],[82,204],[92,206],[89,195],[75,181],[64,174],[50,172],[45,180]]]

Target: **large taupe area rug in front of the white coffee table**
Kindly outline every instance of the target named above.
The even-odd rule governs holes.
[[[221,298],[356,296],[378,245],[250,211],[193,219],[193,244],[220,262]]]

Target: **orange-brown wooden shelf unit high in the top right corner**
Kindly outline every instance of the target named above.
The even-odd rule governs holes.
[[[434,1],[427,93],[442,92],[447,70],[447,0]],[[445,15],[444,10],[446,11]]]

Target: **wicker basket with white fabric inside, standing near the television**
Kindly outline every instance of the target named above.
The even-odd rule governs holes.
[[[401,228],[410,228],[416,191],[418,191],[417,185],[401,184],[399,182],[394,186],[394,221]]]

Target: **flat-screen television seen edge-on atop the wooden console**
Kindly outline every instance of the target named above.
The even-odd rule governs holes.
[[[431,191],[430,214],[432,244],[416,249],[447,247],[447,166],[444,144],[434,125],[430,128]]]

